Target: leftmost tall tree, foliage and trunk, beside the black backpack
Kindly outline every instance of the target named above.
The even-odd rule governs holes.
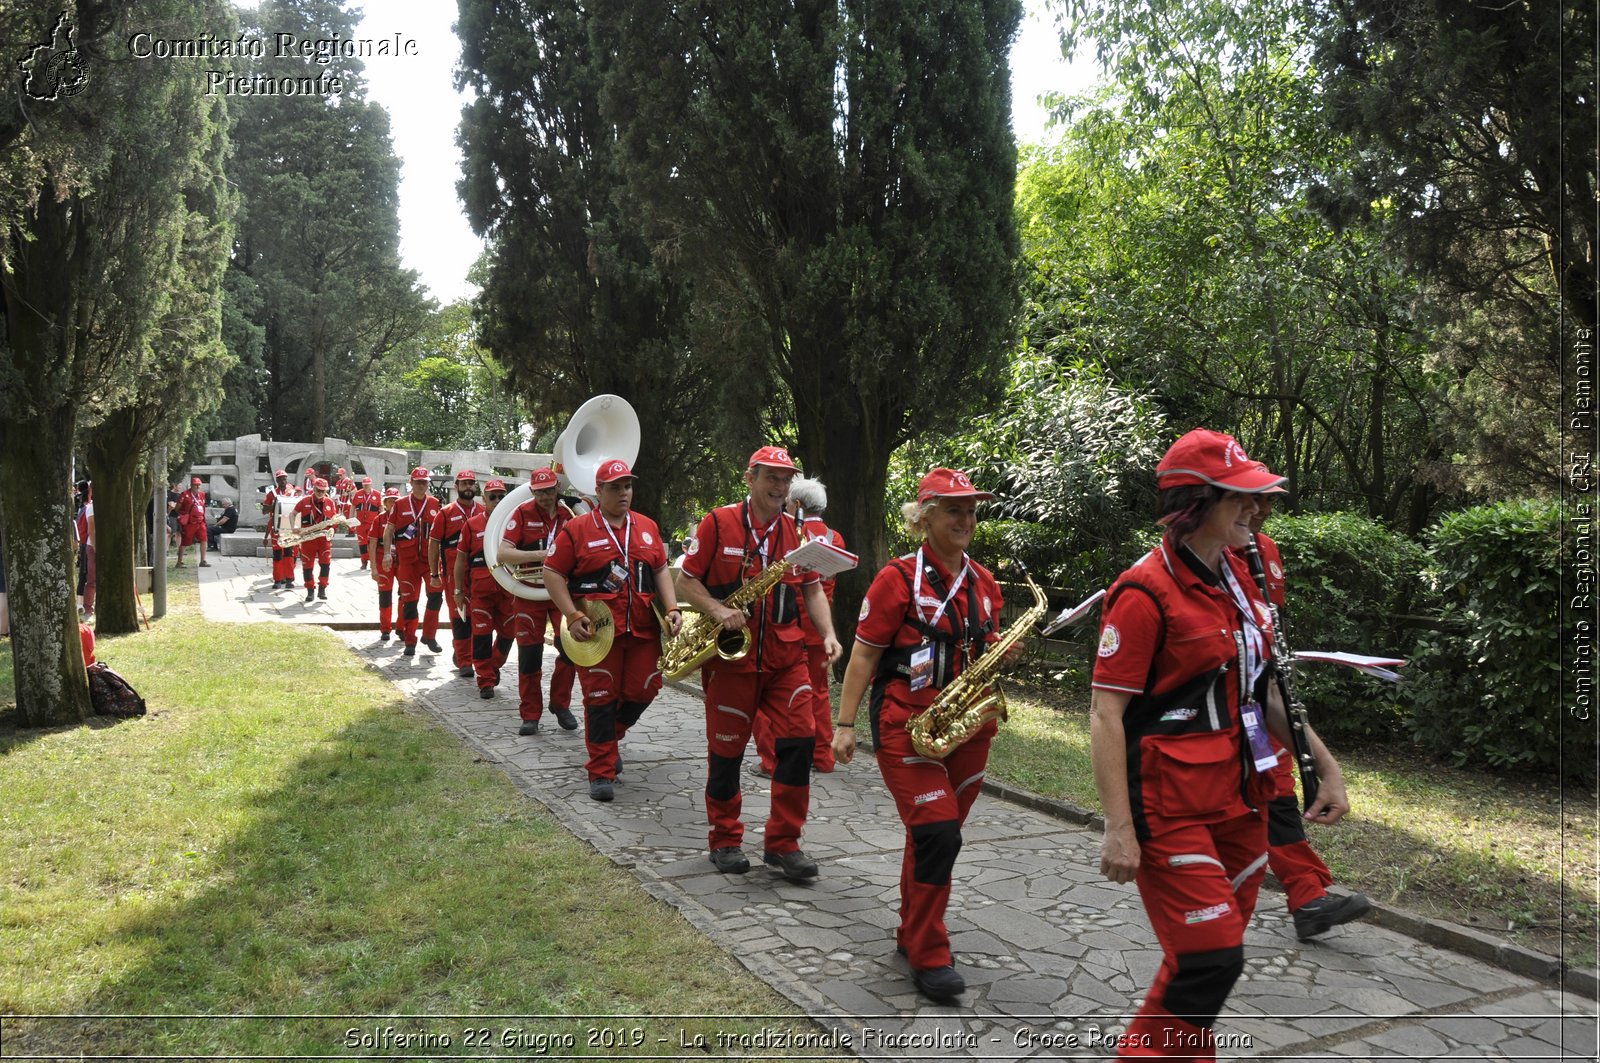
[[[106,11],[106,40],[131,14]],[[200,34],[206,3],[154,0],[139,19]],[[0,522],[18,708],[32,725],[90,711],[72,602],[72,448],[83,410],[133,395],[130,362],[152,343],[187,216],[184,179],[205,144],[190,67],[85,59],[78,91],[35,101],[51,118],[3,147],[26,178],[0,239]]]

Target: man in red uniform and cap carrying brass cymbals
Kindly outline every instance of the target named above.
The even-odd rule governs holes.
[[[650,517],[634,512],[634,471],[626,461],[605,461],[595,472],[598,507],[573,517],[555,535],[544,559],[544,588],[566,616],[563,639],[587,642],[589,616],[574,597],[598,599],[611,610],[611,652],[579,669],[584,690],[584,744],[589,749],[589,796],[614,797],[621,767],[619,743],[661,690],[661,626],[651,602],[666,607],[667,629],[682,623],[667,544]]]

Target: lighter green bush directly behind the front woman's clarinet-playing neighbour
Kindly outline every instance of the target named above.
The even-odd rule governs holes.
[[[1291,650],[1411,655],[1416,634],[1398,618],[1426,608],[1421,546],[1350,512],[1278,514],[1266,533],[1283,554]],[[1326,738],[1405,735],[1395,684],[1339,664],[1301,663],[1294,688]]]

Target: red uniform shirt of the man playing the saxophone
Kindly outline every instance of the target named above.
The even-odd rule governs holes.
[[[701,517],[699,528],[683,556],[683,572],[706,584],[712,597],[723,600],[746,580],[782,560],[800,546],[795,519],[778,514],[771,523],[757,528],[750,503],[718,506]],[[730,671],[781,671],[805,660],[805,632],[800,629],[800,589],[818,583],[814,572],[789,570],[757,608],[750,610],[752,652],[739,661],[720,661]]]

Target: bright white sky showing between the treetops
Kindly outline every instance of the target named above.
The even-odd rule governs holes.
[[[1093,80],[1093,64],[1069,67],[1061,59],[1061,43],[1043,0],[1026,0],[1027,14],[1011,51],[1013,128],[1019,141],[1046,138],[1045,110],[1038,96],[1046,91],[1078,91]],[[459,58],[451,24],[456,5],[442,0],[366,0],[366,14],[357,27],[360,37],[416,38],[418,54],[397,59],[366,59],[373,99],[389,109],[400,176],[400,256],[418,271],[422,283],[440,303],[467,298],[467,269],[482,253],[472,234],[456,181],[461,178],[461,150],[456,123],[464,96],[454,90],[453,70]]]

